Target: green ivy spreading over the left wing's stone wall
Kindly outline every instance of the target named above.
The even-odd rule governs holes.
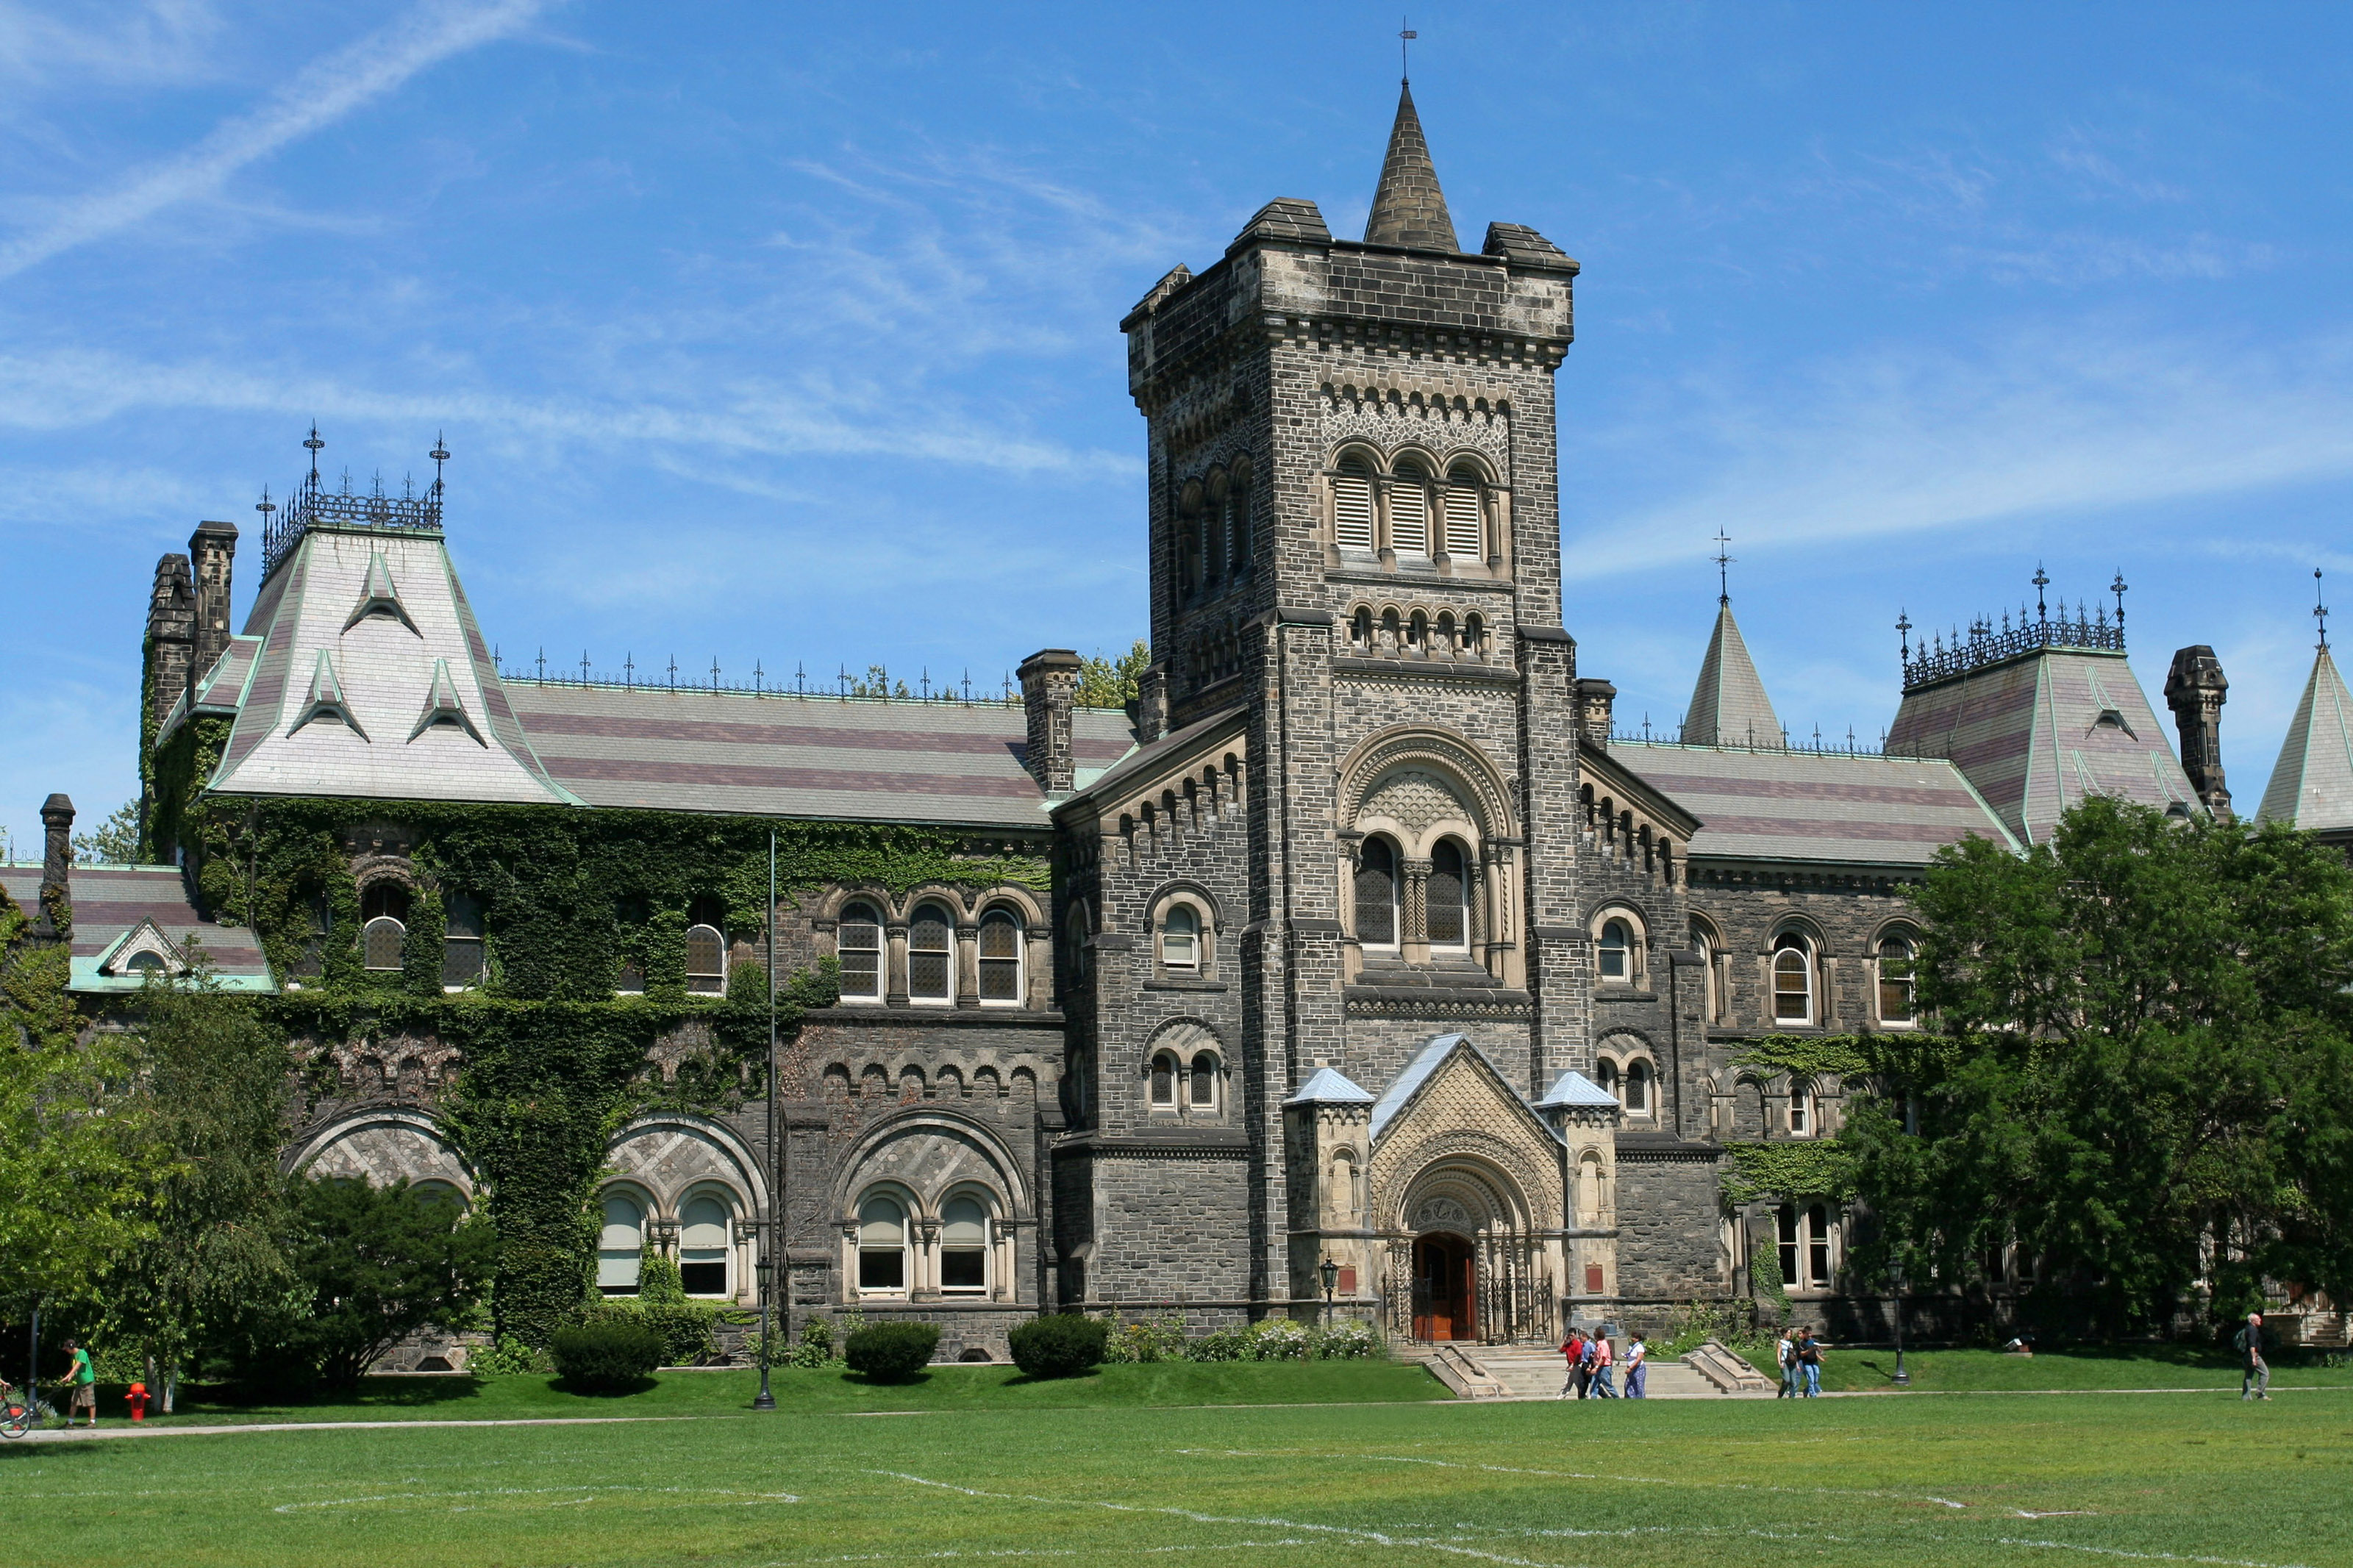
[[[729,940],[767,926],[767,851],[776,889],[866,884],[1047,886],[1042,853],[974,849],[936,827],[769,823],[746,816],[588,811],[447,802],[198,797],[219,733],[191,726],[158,755],[155,825],[176,835],[214,919],[249,924],[299,990],[256,999],[289,1041],[435,1037],[459,1070],[440,1117],[482,1178],[499,1232],[492,1295],[499,1333],[546,1338],[593,1298],[591,1213],[612,1135],[649,1110],[722,1112],[765,1093],[767,983],[739,964],[725,997],[687,992],[689,910],[715,910]],[[160,839],[158,839],[160,842]],[[362,875],[409,896],[398,971],[360,950]],[[482,907],[485,976],[442,990],[442,912]],[[621,966],[645,983],[616,997]],[[776,997],[788,1037],[838,994],[831,961]],[[673,1046],[654,1072],[649,1051]],[[678,1041],[689,1041],[682,1060]],[[322,1072],[327,1058],[313,1056]],[[318,1084],[329,1088],[329,1084]]]

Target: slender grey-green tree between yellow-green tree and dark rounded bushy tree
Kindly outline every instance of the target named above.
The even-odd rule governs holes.
[[[287,1048],[202,966],[148,983],[132,1039],[160,1159],[141,1194],[153,1244],[118,1262],[111,1326],[146,1349],[169,1410],[188,1361],[292,1286],[278,1248]]]

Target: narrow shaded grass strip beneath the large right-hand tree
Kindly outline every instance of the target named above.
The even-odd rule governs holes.
[[[1748,1352],[1767,1378],[1777,1378],[1772,1347]],[[1821,1359],[1826,1394],[1871,1394],[1894,1387],[1897,1352],[1842,1349]],[[1911,1387],[1941,1394],[2038,1392],[2038,1389],[2219,1389],[2238,1392],[2238,1359],[2228,1352],[2186,1345],[2129,1345],[2118,1349],[2045,1349],[2005,1356],[1995,1349],[1915,1349],[1904,1354]],[[2271,1359],[2273,1387],[2353,1387],[2353,1366],[2320,1366],[2306,1352]]]

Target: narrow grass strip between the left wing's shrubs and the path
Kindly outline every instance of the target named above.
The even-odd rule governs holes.
[[[899,1385],[847,1373],[779,1368],[772,1392],[784,1410],[1047,1410],[1188,1403],[1369,1403],[1447,1399],[1445,1385],[1398,1361],[1266,1361],[1106,1366],[1087,1378],[1031,1380],[1009,1366],[934,1366]],[[546,1415],[736,1415],[751,1410],[760,1373],[664,1373],[628,1396],[572,1394],[553,1378],[369,1378],[358,1394],[322,1394],[296,1403],[240,1399],[231,1389],[191,1389],[153,1425],[280,1420],[529,1420]],[[120,1387],[101,1387],[108,1425],[125,1410]]]

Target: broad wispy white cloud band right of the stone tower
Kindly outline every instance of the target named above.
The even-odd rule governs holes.
[[[1567,571],[1697,557],[1727,520],[1814,545],[2341,480],[2348,369],[2344,341],[2268,355],[2042,331],[1974,360],[1882,350],[1795,386],[1718,378],[1685,388],[1697,416],[1642,433],[1678,444],[1699,482],[1574,538]]]

